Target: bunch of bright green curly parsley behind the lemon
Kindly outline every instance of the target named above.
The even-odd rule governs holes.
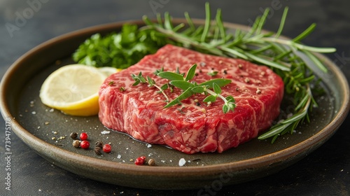
[[[165,45],[160,37],[156,31],[140,31],[137,25],[125,24],[118,34],[92,35],[73,53],[73,60],[89,66],[125,69]]]

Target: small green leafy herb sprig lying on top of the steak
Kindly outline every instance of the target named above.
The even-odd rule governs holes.
[[[165,108],[169,108],[171,106],[174,106],[176,104],[181,104],[181,101],[184,99],[187,99],[188,97],[193,96],[197,93],[204,93],[209,94],[206,98],[203,99],[203,102],[206,102],[208,104],[211,104],[213,102],[216,102],[217,98],[223,99],[223,113],[228,113],[229,111],[235,110],[235,99],[232,96],[223,97],[221,95],[221,87],[228,85],[231,83],[231,80],[223,79],[223,78],[216,78],[212,80],[207,80],[203,83],[197,84],[195,82],[190,82],[195,76],[195,70],[197,68],[197,64],[193,64],[193,66],[188,69],[186,75],[179,73],[179,71],[172,72],[172,71],[164,71],[163,69],[155,71],[155,75],[159,76],[160,78],[165,78],[169,80],[169,83],[166,83],[162,85],[162,87],[159,87],[155,84],[155,80],[153,80],[151,77],[147,76],[144,78],[142,76],[142,73],[140,72],[138,75],[132,74],[132,79],[135,80],[135,83],[133,85],[138,85],[139,83],[148,83],[148,86],[155,86],[158,87],[160,90],[159,92],[162,92],[167,102],[169,102],[169,98],[165,94],[164,90],[167,89],[169,86],[179,87],[183,92],[179,94],[175,99],[172,100],[172,102],[169,102],[167,105],[165,105]],[[212,90],[211,90],[212,89]]]

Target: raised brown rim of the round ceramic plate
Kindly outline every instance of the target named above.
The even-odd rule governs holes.
[[[195,24],[200,24],[204,20],[202,19],[194,19],[193,22]],[[186,22],[185,19],[182,18],[176,18],[174,19],[174,22]],[[327,141],[332,134],[335,134],[339,126],[343,123],[345,120],[349,109],[349,99],[350,99],[350,92],[349,92],[349,83],[347,82],[344,73],[337,67],[333,62],[330,61],[328,57],[325,57],[325,55],[321,55],[319,53],[316,53],[318,57],[322,57],[325,65],[330,69],[333,73],[335,73],[335,76],[337,76],[337,80],[339,80],[339,83],[341,84],[341,89],[344,92],[344,102],[340,104],[339,111],[332,117],[332,120],[330,123],[328,123],[327,126],[323,127],[322,130],[318,131],[313,136],[309,137],[308,139],[305,139],[304,141],[297,143],[293,146],[290,146],[288,148],[284,148],[281,151],[277,151],[274,153],[269,153],[267,155],[262,155],[259,157],[251,158],[248,160],[239,160],[237,162],[228,162],[228,163],[221,163],[216,165],[208,165],[208,166],[186,166],[186,167],[167,167],[167,166],[157,166],[157,167],[139,167],[137,165],[131,165],[131,164],[117,164],[116,162],[111,162],[108,160],[99,160],[97,158],[87,157],[85,155],[78,155],[76,153],[73,153],[71,151],[66,151],[62,148],[59,148],[59,146],[55,146],[52,144],[49,144],[38,137],[36,137],[34,134],[31,134],[29,131],[25,129],[25,127],[22,127],[20,123],[18,123],[17,120],[15,120],[14,115],[10,113],[10,109],[8,108],[7,102],[6,102],[6,89],[8,88],[8,80],[11,75],[15,72],[16,69],[18,69],[18,64],[21,64],[21,62],[24,62],[28,57],[30,57],[34,52],[38,52],[39,50],[43,50],[45,47],[49,47],[52,44],[55,44],[59,41],[63,41],[67,38],[72,38],[76,36],[80,36],[81,34],[93,34],[96,31],[105,31],[106,29],[118,29],[121,27],[121,25],[125,23],[133,23],[137,25],[143,25],[144,22],[142,20],[125,20],[120,22],[111,22],[103,25],[96,25],[92,27],[86,27],[83,29],[78,29],[76,31],[71,31],[66,34],[62,34],[61,36],[56,36],[55,38],[51,38],[48,41],[45,41],[36,47],[32,48],[28,52],[26,52],[24,55],[22,55],[20,58],[18,58],[13,64],[10,65],[6,73],[3,75],[3,78],[1,79],[0,84],[0,106],[1,106],[1,114],[3,118],[11,118],[11,130],[15,132],[15,134],[20,137],[22,141],[25,142],[28,146],[30,146],[36,153],[39,153],[38,151],[41,150],[50,150],[54,152],[56,155],[58,155],[61,158],[69,158],[71,162],[82,162],[83,165],[87,165],[89,167],[100,167],[103,165],[103,167],[106,167],[106,169],[113,169],[118,171],[126,171],[126,172],[132,172],[134,174],[139,175],[151,175],[156,174],[158,176],[172,176],[174,172],[180,176],[188,176],[188,175],[196,175],[196,174],[217,174],[218,172],[237,172],[241,171],[242,169],[246,168],[259,168],[262,166],[269,166],[271,164],[272,160],[279,160],[280,162],[286,161],[289,158],[292,158],[293,155],[297,155],[302,151],[305,151],[305,148],[307,148],[309,151],[314,151],[314,149],[318,148],[318,146],[321,146],[325,141]],[[225,26],[232,29],[237,29],[239,27],[240,29],[248,29],[248,26],[245,25],[239,25],[231,22],[225,22]],[[316,146],[316,148],[315,148]],[[312,149],[311,149],[312,148]],[[39,153],[39,155],[41,155]],[[98,161],[96,161],[98,160]],[[172,170],[172,171],[170,171]]]

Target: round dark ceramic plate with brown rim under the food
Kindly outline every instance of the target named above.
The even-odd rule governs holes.
[[[176,20],[184,22],[184,20]],[[202,20],[197,20],[202,23]],[[148,145],[110,132],[97,116],[66,116],[44,106],[39,97],[43,80],[60,66],[73,63],[71,54],[94,33],[119,31],[124,22],[91,27],[53,38],[18,59],[1,81],[1,113],[10,118],[12,130],[43,158],[89,179],[120,186],[153,189],[189,189],[223,186],[251,181],[286,168],[314,151],[335,133],[349,111],[349,86],[337,66],[318,55],[329,73],[317,73],[327,91],[317,97],[319,107],[311,113],[311,123],[297,127],[274,144],[253,139],[224,153],[186,155],[165,146]],[[142,22],[134,22],[142,25]],[[246,29],[226,24],[229,29]],[[288,106],[282,106],[282,114]],[[72,146],[71,132],[87,132],[91,144],[111,143],[113,152],[96,155],[93,148]],[[156,166],[134,165],[144,155]],[[179,166],[184,158],[186,165]]]

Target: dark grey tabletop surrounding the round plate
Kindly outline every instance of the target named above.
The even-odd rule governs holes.
[[[304,40],[307,45],[335,47],[327,56],[350,80],[350,1],[209,1],[222,8],[223,19],[251,25],[269,7],[265,29],[276,30],[284,6],[289,15],[283,32],[297,36],[316,22],[317,28]],[[123,20],[155,17],[169,11],[181,18],[188,11],[193,18],[204,18],[204,1],[0,1],[0,76],[18,57],[70,31]],[[20,20],[19,18],[24,20]],[[7,24],[7,25],[6,25]],[[16,28],[9,28],[8,24]],[[287,169],[262,179],[225,186],[207,195],[350,195],[350,117],[323,146]],[[198,195],[198,190],[139,190],[115,186],[66,172],[41,158],[15,134],[11,135],[11,190],[5,185],[5,121],[0,120],[0,195]],[[200,195],[204,195],[202,194]]]

